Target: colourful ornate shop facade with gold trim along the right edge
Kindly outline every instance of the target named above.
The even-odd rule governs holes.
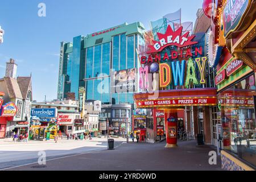
[[[209,13],[212,29],[209,55],[212,66],[217,68],[215,84],[222,124],[222,168],[255,170],[256,3],[214,2],[216,6],[210,11],[216,13]],[[204,1],[206,14],[211,3]]]

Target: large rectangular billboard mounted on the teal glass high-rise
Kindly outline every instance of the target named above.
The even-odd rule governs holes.
[[[123,69],[111,72],[111,92],[112,93],[132,93],[137,91],[137,69]]]

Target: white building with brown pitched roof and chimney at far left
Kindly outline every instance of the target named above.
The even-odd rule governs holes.
[[[13,119],[8,120],[6,127],[6,137],[11,137],[13,133],[25,133],[30,127],[30,110],[32,101],[32,78],[16,77],[17,65],[15,60],[10,59],[6,63],[6,75],[0,78],[0,92],[5,93],[3,100],[5,103],[13,102],[17,111]]]

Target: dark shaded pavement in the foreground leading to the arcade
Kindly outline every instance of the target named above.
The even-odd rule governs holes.
[[[179,147],[164,148],[160,143],[123,143],[115,150],[95,151],[88,154],[49,160],[46,165],[30,164],[9,170],[221,170],[208,163],[208,153],[214,148],[196,147],[195,141],[179,142]]]

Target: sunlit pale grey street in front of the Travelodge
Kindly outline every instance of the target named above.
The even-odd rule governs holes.
[[[116,139],[115,147],[122,144],[124,139]],[[89,152],[107,150],[106,139],[94,140],[53,140],[30,141],[28,143],[1,142],[0,144],[0,169],[20,166],[38,162],[39,151],[46,152],[46,159],[62,156],[88,154]]]

